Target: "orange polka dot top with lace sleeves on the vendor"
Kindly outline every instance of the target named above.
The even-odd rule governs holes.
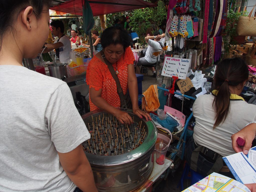
[[[134,60],[135,59],[134,59],[131,48],[127,47],[125,49],[123,57],[121,57],[121,59],[119,59],[116,63],[113,63],[112,65],[115,71],[116,71],[116,67],[118,69],[119,73],[117,76],[120,81],[124,94],[126,94],[128,89],[127,67],[129,64],[133,65]],[[96,91],[99,91],[100,89],[102,89],[101,97],[105,99],[108,102],[108,104],[112,105],[113,107],[121,106],[120,98],[117,93],[116,82],[113,79],[108,69],[108,66],[97,57],[93,57],[87,67],[86,82],[89,85],[89,88],[94,88]],[[96,105],[92,103],[90,96],[89,96],[89,104],[90,104],[90,111],[99,109]]]

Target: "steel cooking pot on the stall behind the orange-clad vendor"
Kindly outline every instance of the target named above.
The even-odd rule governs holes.
[[[67,65],[68,63],[52,63],[46,65],[46,67],[48,67],[51,77],[63,79],[64,76],[68,77]]]

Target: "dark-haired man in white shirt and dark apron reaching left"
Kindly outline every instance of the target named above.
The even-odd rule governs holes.
[[[58,39],[52,44],[45,44],[45,50],[43,53],[47,53],[55,49],[56,56],[60,59],[61,63],[68,63],[70,60],[69,52],[71,50],[71,44],[69,38],[64,34],[64,24],[61,20],[55,20],[51,22],[52,34],[57,36]]]

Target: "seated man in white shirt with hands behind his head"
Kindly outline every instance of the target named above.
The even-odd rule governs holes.
[[[153,72],[153,77],[155,77],[156,72],[155,72],[154,66],[156,63],[157,56],[153,55],[153,53],[159,52],[162,50],[165,42],[165,34],[163,33],[162,35],[160,35],[159,31],[156,31],[154,32],[154,36],[147,36],[145,37],[145,40],[148,44],[148,48],[147,48],[145,57],[141,57],[137,62],[136,73],[140,74],[139,66],[152,65],[153,67],[151,67],[150,69]]]

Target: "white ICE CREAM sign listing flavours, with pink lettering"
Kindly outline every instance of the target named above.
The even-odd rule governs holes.
[[[186,79],[191,59],[182,59],[165,56],[162,74],[166,77],[176,76],[178,79]]]

